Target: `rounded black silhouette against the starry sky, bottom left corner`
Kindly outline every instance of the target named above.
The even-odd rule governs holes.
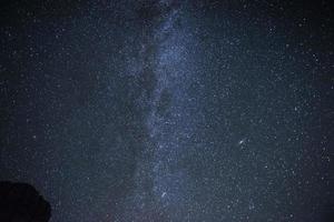
[[[32,185],[0,182],[1,222],[47,222],[50,216],[49,202]]]

